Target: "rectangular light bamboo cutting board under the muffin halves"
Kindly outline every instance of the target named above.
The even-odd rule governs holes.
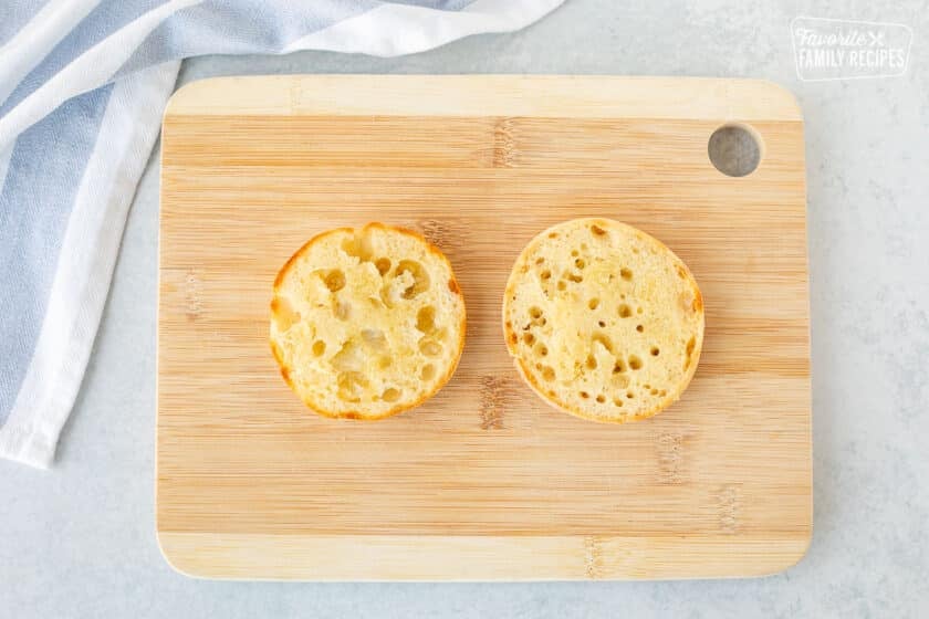
[[[761,141],[751,175],[708,158]],[[157,532],[216,578],[756,576],[811,535],[803,120],[758,81],[274,76],[197,82],[163,130]],[[510,266],[601,216],[693,271],[700,367],[661,415],[556,412],[503,343]],[[278,269],[321,230],[378,220],[449,256],[468,339],[432,400],[379,421],[303,407],[268,345]]]

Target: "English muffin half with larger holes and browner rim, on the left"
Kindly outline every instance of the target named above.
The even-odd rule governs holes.
[[[311,239],[283,265],[271,349],[303,402],[326,417],[382,419],[448,382],[464,301],[445,254],[382,223]]]

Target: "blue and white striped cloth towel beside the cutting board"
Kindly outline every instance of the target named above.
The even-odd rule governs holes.
[[[180,60],[399,55],[563,0],[12,0],[0,9],[0,457],[48,466]]]

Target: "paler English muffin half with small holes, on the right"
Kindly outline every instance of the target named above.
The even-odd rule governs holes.
[[[535,237],[507,283],[503,329],[523,379],[571,415],[651,417],[687,388],[703,344],[703,302],[657,239],[608,219]]]

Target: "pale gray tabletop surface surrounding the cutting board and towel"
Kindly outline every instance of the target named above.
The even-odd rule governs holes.
[[[762,6],[763,4],[763,6]],[[133,206],[54,469],[0,461],[0,617],[929,616],[929,88],[925,2],[568,0],[512,35],[415,56],[203,57],[244,73],[613,73],[765,77],[806,120],[815,526],[754,580],[285,584],[192,580],[154,533],[158,153]],[[804,83],[797,14],[909,24],[905,76]]]

